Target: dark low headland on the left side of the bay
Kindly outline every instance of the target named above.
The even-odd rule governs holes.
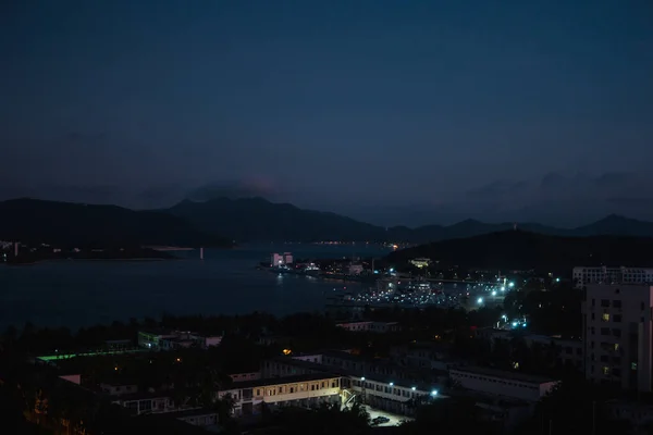
[[[0,240],[66,247],[231,246],[169,213],[36,199],[0,202]]]

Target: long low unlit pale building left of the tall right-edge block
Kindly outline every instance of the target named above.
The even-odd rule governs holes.
[[[449,376],[463,388],[527,402],[537,402],[558,384],[543,376],[479,366],[449,369]]]

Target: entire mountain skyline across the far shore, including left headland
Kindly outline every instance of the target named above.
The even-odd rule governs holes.
[[[244,241],[382,241],[424,244],[518,229],[555,236],[653,237],[653,223],[609,215],[577,228],[535,223],[385,228],[335,213],[273,203],[262,198],[183,201],[153,211],[116,206],[14,199],[0,202],[0,239],[56,244],[227,246]]]

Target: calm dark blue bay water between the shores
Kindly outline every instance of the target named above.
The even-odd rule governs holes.
[[[77,328],[130,318],[171,314],[238,314],[255,310],[278,315],[323,308],[334,288],[369,284],[278,275],[255,266],[271,252],[295,258],[381,257],[371,246],[258,245],[233,250],[184,252],[180,261],[58,261],[0,265],[0,327]]]

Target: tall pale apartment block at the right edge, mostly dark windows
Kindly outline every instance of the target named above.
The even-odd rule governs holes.
[[[653,286],[595,284],[586,288],[586,377],[651,391]]]

